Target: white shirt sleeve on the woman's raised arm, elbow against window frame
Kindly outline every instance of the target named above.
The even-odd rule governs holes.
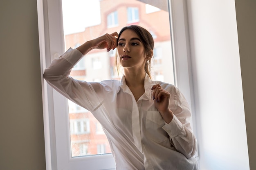
[[[83,54],[79,50],[70,48],[61,57],[52,61],[49,68],[45,69],[44,78],[63,96],[89,111],[93,111],[103,100],[101,92],[104,85],[79,81],[69,76],[73,66],[82,57]]]

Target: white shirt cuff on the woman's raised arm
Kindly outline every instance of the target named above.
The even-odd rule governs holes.
[[[66,52],[64,52],[64,54],[61,55],[61,57],[70,62],[72,65],[76,65],[76,63],[78,63],[78,61],[83,57],[83,54],[77,49],[69,48]]]

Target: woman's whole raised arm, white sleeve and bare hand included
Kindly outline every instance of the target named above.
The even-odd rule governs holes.
[[[117,47],[118,33],[105,34],[96,39],[86,41],[77,49],[67,50],[61,57],[54,59],[49,68],[45,69],[44,78],[54,89],[76,104],[92,111],[100,103],[101,91],[105,87],[100,83],[88,83],[70,77],[73,66],[90,50],[104,49],[108,51]],[[97,89],[97,92],[94,90]],[[90,100],[89,100],[90,98]]]

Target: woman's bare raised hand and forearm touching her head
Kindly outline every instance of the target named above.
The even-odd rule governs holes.
[[[84,55],[92,49],[106,48],[109,52],[111,49],[114,50],[117,47],[117,37],[117,32],[112,34],[104,34],[98,38],[85,42],[83,45],[77,47],[76,49]]]

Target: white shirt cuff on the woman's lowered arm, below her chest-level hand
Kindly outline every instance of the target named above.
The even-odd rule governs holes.
[[[176,116],[173,116],[173,119],[171,120],[170,123],[164,122],[164,124],[165,125],[162,127],[162,129],[164,129],[164,131],[168,133],[170,139],[179,135],[181,131],[184,129],[184,125]]]

